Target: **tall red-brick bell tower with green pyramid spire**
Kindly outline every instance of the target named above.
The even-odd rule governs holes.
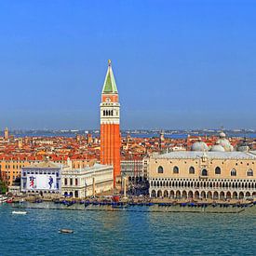
[[[101,164],[114,166],[114,186],[120,177],[120,104],[111,61],[101,92]]]

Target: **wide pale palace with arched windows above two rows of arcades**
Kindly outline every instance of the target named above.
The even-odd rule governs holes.
[[[186,151],[149,159],[152,197],[242,199],[256,196],[256,152]]]

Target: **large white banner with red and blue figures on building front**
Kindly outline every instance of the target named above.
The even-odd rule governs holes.
[[[27,189],[29,190],[57,190],[56,175],[28,174]]]

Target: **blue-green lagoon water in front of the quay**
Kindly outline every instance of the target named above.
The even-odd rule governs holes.
[[[12,210],[0,205],[0,255],[256,254],[255,206],[235,214]]]

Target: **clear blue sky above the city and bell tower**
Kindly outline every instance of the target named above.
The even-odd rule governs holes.
[[[122,128],[256,128],[256,4],[0,2],[0,128],[99,128],[113,61]]]

